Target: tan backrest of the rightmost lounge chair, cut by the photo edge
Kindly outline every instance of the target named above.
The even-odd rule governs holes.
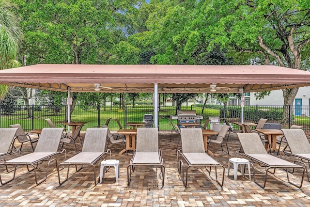
[[[282,129],[292,154],[310,154],[310,143],[302,129]]]

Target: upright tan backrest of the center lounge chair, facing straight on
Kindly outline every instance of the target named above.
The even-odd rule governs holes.
[[[158,128],[137,128],[136,152],[158,152]]]

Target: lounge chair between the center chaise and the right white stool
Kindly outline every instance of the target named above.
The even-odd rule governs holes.
[[[220,186],[223,186],[225,167],[205,152],[202,129],[181,128],[181,140],[182,149],[178,150],[177,152],[177,166],[179,173],[182,172],[182,181],[184,186],[187,186],[188,168],[190,167],[205,167],[209,175],[211,174],[211,167],[215,167],[216,181]],[[184,169],[183,160],[187,164],[186,169]],[[207,167],[209,167],[209,170]],[[218,167],[223,169],[222,181],[217,179]],[[186,171],[186,175],[184,175],[184,171]]]

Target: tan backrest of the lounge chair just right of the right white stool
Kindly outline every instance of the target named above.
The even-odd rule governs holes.
[[[237,133],[245,154],[267,154],[258,133]]]

